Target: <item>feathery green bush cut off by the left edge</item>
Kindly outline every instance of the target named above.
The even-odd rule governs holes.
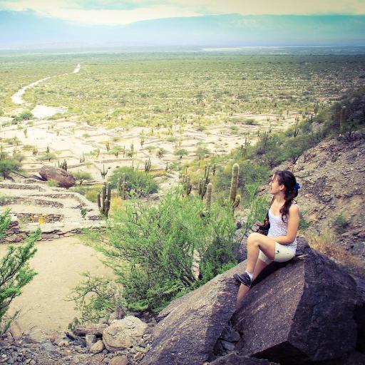
[[[9,210],[0,215],[0,239],[9,227]],[[29,267],[29,259],[36,253],[36,240],[41,237],[41,230],[34,232],[24,245],[9,245],[0,260],[0,336],[4,334],[17,316],[6,317],[11,301],[21,294],[21,288],[34,278],[36,272]]]

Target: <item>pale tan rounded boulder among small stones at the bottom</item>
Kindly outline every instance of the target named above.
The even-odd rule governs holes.
[[[104,329],[103,342],[109,351],[128,349],[142,339],[147,327],[147,324],[133,316],[115,319]]]

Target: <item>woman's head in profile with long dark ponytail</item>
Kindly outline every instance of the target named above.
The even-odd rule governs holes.
[[[280,209],[282,213],[282,220],[287,217],[289,213],[289,207],[292,205],[292,200],[298,195],[297,180],[293,173],[288,170],[276,171],[272,175],[270,181],[270,193],[272,195],[281,194],[284,197],[284,205]]]

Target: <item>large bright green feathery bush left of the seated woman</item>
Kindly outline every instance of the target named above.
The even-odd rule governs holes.
[[[91,233],[91,242],[103,242],[96,248],[118,276],[125,307],[158,312],[236,264],[230,206],[213,204],[202,217],[205,209],[199,197],[182,198],[176,190],[159,205],[130,202],[114,212],[102,237]],[[192,273],[193,257],[200,257],[199,279]]]

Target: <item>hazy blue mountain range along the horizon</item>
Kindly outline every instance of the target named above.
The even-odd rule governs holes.
[[[239,14],[86,26],[33,11],[0,11],[0,48],[113,46],[364,46],[365,16]]]

